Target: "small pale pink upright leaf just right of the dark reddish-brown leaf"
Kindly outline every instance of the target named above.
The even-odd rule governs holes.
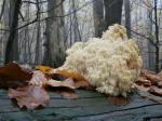
[[[37,86],[45,86],[48,85],[48,79],[40,70],[36,70],[32,73],[32,78],[29,81],[29,84]]]

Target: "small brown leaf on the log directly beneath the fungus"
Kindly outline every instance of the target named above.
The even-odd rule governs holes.
[[[110,104],[114,105],[125,105],[130,103],[129,98],[125,98],[123,96],[110,96],[108,99]]]

